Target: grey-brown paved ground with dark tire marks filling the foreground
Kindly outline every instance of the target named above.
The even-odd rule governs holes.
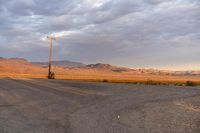
[[[200,89],[3,78],[0,133],[200,133]]]

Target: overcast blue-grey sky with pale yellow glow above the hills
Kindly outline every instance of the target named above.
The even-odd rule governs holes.
[[[200,70],[200,0],[0,0],[0,56]]]

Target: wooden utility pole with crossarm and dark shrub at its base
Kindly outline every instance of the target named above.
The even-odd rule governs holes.
[[[53,48],[53,40],[56,40],[56,38],[53,37],[52,35],[47,36],[47,38],[50,40],[48,79],[55,79],[55,73],[51,71],[51,66],[52,66],[52,48]]]

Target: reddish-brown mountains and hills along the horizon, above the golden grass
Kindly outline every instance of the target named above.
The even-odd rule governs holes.
[[[83,73],[83,74],[131,74],[131,75],[200,75],[200,71],[164,71],[157,69],[131,69],[113,66],[110,64],[89,64],[68,60],[53,61],[53,66],[58,74]],[[47,72],[48,62],[29,62],[24,58],[0,57],[0,72],[2,73],[41,73]]]

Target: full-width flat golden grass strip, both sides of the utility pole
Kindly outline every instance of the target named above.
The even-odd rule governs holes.
[[[47,78],[46,74],[12,74],[1,73],[0,77],[11,78]],[[194,85],[200,85],[200,76],[171,76],[171,75],[132,75],[132,74],[90,74],[90,73],[68,73],[56,75],[56,79],[62,80],[82,80],[94,82],[114,82],[114,83],[135,83],[135,84],[175,84],[184,85],[187,81],[192,81]]]

